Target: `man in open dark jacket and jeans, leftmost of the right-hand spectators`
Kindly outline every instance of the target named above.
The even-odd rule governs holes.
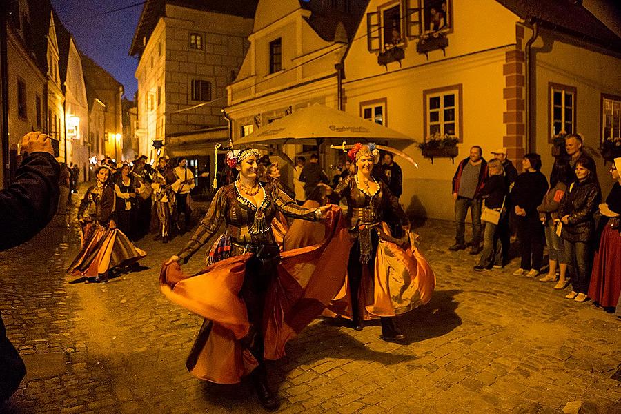
[[[462,160],[453,177],[453,199],[455,200],[455,244],[451,251],[466,248],[466,214],[470,208],[472,218],[471,255],[481,251],[481,197],[480,192],[487,177],[487,163],[482,158],[480,146],[470,148],[470,157]]]

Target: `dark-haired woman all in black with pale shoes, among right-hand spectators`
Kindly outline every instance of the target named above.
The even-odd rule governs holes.
[[[511,205],[517,216],[517,238],[522,260],[513,275],[535,277],[543,264],[544,226],[537,207],[548,191],[548,180],[540,172],[541,157],[531,153],[522,159],[524,172],[517,176],[511,190]]]

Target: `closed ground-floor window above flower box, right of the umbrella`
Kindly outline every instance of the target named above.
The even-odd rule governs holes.
[[[462,139],[462,86],[423,91],[424,137]]]

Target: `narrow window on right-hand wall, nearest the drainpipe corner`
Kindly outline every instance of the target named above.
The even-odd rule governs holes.
[[[576,88],[550,83],[550,133],[551,139],[559,134],[575,132]]]

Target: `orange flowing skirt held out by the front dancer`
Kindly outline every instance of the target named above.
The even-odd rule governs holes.
[[[263,311],[264,357],[285,355],[286,342],[311,323],[343,285],[349,234],[338,208],[325,219],[326,237],[314,246],[281,253],[277,275],[268,287]],[[235,384],[257,366],[242,346],[250,323],[239,293],[251,253],[230,257],[192,277],[178,263],[162,266],[162,293],[189,311],[208,319],[199,334],[201,343],[188,359],[190,372],[201,380]]]

